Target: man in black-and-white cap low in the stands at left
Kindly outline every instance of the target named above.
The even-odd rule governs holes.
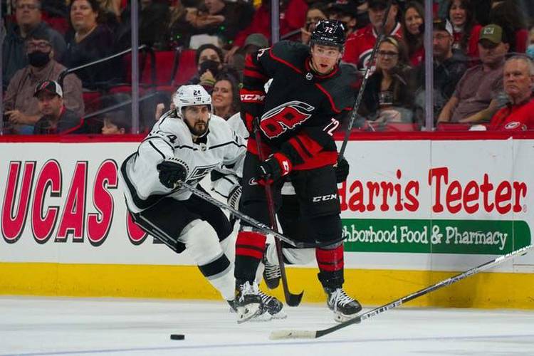
[[[63,105],[63,90],[55,80],[44,80],[35,88],[39,120],[33,127],[34,135],[65,135],[85,133],[83,118]]]

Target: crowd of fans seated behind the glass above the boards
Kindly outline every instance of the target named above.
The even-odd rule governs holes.
[[[355,130],[420,130],[430,114],[438,130],[534,129],[534,1],[434,0],[433,58],[425,58],[424,0],[390,0],[384,21],[388,2],[280,1],[281,39],[308,43],[321,19],[345,23],[342,61],[370,73]],[[131,89],[117,89],[130,81],[130,59],[84,67],[131,47],[129,0],[2,6],[4,133],[130,132]],[[209,90],[214,114],[228,119],[239,112],[244,58],[271,42],[270,0],[141,0],[138,20],[140,44],[175,53],[174,63],[163,66],[183,71],[180,58],[194,51],[190,78],[142,88],[141,130],[172,109],[171,95],[184,83]],[[147,56],[141,58],[144,68]],[[434,63],[431,113],[424,105],[425,61]],[[157,70],[172,72],[161,64]],[[100,95],[96,109],[89,93]]]

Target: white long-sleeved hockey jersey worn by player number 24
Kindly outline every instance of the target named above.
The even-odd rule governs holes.
[[[194,185],[215,168],[224,167],[241,177],[245,153],[246,142],[221,117],[211,115],[208,132],[193,142],[185,122],[169,111],[152,127],[137,152],[122,163],[120,177],[128,209],[136,213],[163,197],[191,197],[187,189],[169,189],[159,182],[156,166],[164,159],[180,159],[187,167],[186,182]]]

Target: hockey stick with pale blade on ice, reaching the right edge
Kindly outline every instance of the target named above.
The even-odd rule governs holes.
[[[318,337],[328,335],[330,333],[333,333],[337,330],[340,330],[342,328],[346,328],[349,325],[352,324],[359,324],[363,320],[372,318],[376,315],[379,315],[380,313],[384,313],[384,311],[387,311],[389,309],[397,308],[399,305],[402,305],[406,302],[409,302],[410,300],[414,300],[415,298],[419,298],[422,295],[425,295],[427,293],[433,292],[436,289],[439,289],[444,286],[449,286],[452,283],[456,283],[458,281],[461,281],[464,278],[467,278],[469,276],[473,276],[473,274],[476,274],[481,271],[485,271],[488,268],[497,266],[498,264],[503,263],[504,261],[507,261],[510,258],[513,258],[515,256],[518,256],[522,253],[525,253],[526,251],[530,250],[530,248],[533,248],[533,245],[528,245],[523,248],[519,248],[518,250],[515,250],[511,253],[507,253],[506,255],[499,256],[498,258],[495,258],[492,261],[488,261],[486,263],[481,264],[480,266],[476,266],[474,268],[471,268],[468,271],[465,271],[464,273],[460,273],[459,275],[456,275],[451,278],[447,278],[444,281],[441,281],[439,283],[436,283],[432,286],[426,287],[422,290],[418,290],[415,293],[412,293],[410,295],[406,295],[402,298],[399,298],[397,300],[392,301],[391,303],[384,304],[378,308],[372,309],[368,311],[367,313],[364,313],[362,315],[357,316],[356,318],[347,320],[343,323],[340,323],[339,325],[335,325],[332,328],[324,329],[324,330],[279,330],[279,331],[273,331],[269,338],[271,340],[279,340],[279,339],[316,339]]]

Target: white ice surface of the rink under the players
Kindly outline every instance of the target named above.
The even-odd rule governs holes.
[[[397,308],[316,340],[268,340],[334,325],[325,305],[286,310],[237,325],[224,301],[2,297],[0,356],[534,355],[530,311]]]

